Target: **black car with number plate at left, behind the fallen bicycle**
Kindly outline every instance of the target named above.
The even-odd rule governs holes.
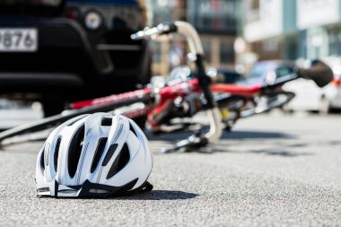
[[[66,101],[147,83],[151,57],[141,0],[1,0],[0,95],[39,100],[45,115]]]

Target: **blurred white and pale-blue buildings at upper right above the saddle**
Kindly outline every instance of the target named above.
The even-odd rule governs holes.
[[[341,0],[244,0],[243,37],[263,59],[341,57]]]

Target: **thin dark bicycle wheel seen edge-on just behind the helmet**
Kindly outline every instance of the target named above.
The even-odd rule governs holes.
[[[13,128],[5,130],[4,132],[1,132],[0,133],[0,146],[4,145],[3,144],[4,140],[10,137],[13,137],[16,135],[23,135],[26,133],[38,132],[38,131],[41,131],[50,127],[55,127],[57,126],[57,124],[60,124],[62,122],[65,122],[68,119],[75,118],[83,114],[92,114],[95,112],[109,112],[114,109],[118,109],[118,108],[131,105],[137,102],[147,103],[152,100],[153,98],[151,96],[146,95],[143,97],[136,97],[136,99],[123,100],[117,103],[111,103],[111,104],[94,106],[94,107],[87,107],[83,109],[69,110],[66,114],[62,113],[62,114],[57,114],[52,117],[42,118],[37,121],[24,124],[18,127],[13,127]]]

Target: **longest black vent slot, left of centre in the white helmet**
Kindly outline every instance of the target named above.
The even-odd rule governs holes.
[[[84,125],[79,127],[74,133],[70,143],[67,167],[71,178],[74,178],[75,171],[77,170],[79,158],[81,157],[83,141],[84,141]]]

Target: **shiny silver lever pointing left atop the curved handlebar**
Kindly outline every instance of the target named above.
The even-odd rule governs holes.
[[[178,27],[173,22],[162,22],[151,29],[146,28],[144,31],[138,31],[130,36],[133,40],[148,39],[153,35],[165,35],[178,31]]]

